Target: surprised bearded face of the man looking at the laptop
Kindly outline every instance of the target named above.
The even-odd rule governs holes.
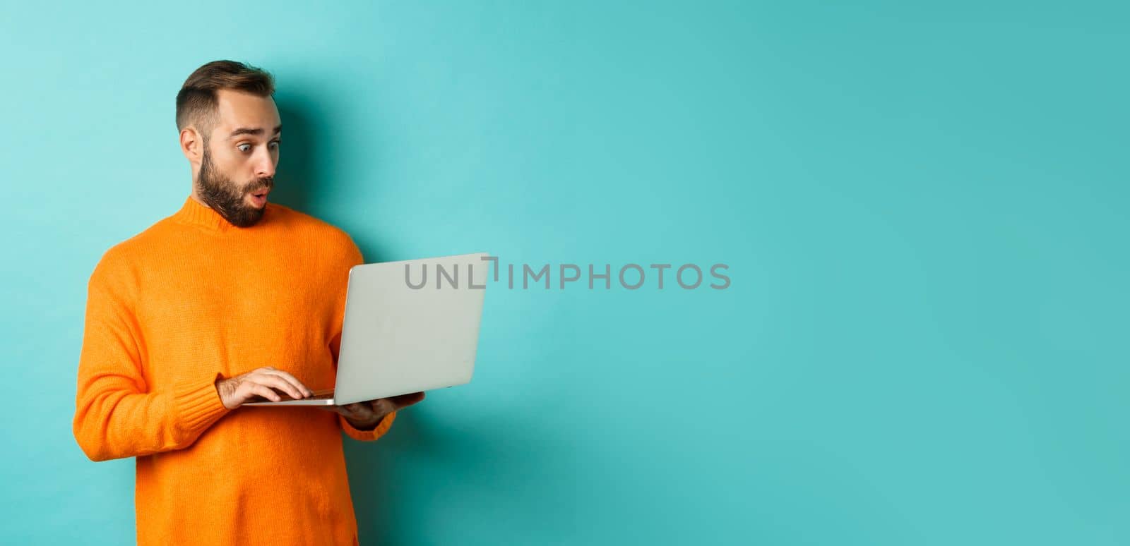
[[[203,143],[197,195],[233,226],[254,226],[275,187],[281,121],[271,97],[220,89],[218,123]]]

